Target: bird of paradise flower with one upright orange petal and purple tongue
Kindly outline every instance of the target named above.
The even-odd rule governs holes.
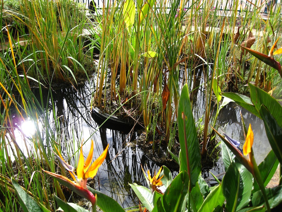
[[[263,194],[267,211],[270,212],[271,210],[270,210],[268,198],[265,192],[264,182],[262,180],[259,168],[253,156],[253,148],[252,148],[253,130],[252,130],[251,124],[249,125],[249,128],[248,128],[248,133],[246,136],[246,141],[243,145],[243,149],[239,148],[240,142],[234,139],[231,139],[226,134],[224,134],[225,137],[227,138],[226,139],[220,133],[218,133],[214,128],[213,130],[219,135],[222,141],[227,145],[227,147],[232,151],[232,153],[239,159],[239,161],[248,169],[248,171],[252,173],[254,179],[257,181],[259,188]],[[248,155],[248,159],[244,155],[245,156]]]

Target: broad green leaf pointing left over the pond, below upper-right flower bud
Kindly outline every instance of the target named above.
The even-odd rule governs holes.
[[[222,96],[226,96],[229,99],[234,100],[238,105],[242,106],[243,108],[247,109],[248,111],[260,118],[259,112],[256,110],[249,97],[235,93],[223,93]]]

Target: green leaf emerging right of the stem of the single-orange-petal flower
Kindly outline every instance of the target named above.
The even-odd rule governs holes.
[[[264,187],[267,186],[271,178],[273,177],[279,162],[275,156],[273,150],[264,158],[264,160],[259,164],[259,172],[261,178],[264,182]],[[256,181],[253,182],[253,193],[259,191],[259,185]]]

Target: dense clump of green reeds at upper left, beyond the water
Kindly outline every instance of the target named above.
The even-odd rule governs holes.
[[[39,77],[45,84],[52,80],[77,84],[76,78],[93,72],[95,62],[84,44],[91,37],[85,31],[89,19],[83,5],[68,0],[23,0],[19,11],[9,13],[18,23],[15,42],[18,36],[26,42],[17,49],[17,58],[30,77]]]

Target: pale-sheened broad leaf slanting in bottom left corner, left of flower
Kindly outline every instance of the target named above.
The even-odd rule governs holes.
[[[26,191],[18,184],[18,182],[12,178],[12,183],[15,188],[15,191],[17,193],[19,202],[24,210],[24,212],[42,212],[43,210],[37,204],[37,202],[34,201],[34,199],[29,196]]]

